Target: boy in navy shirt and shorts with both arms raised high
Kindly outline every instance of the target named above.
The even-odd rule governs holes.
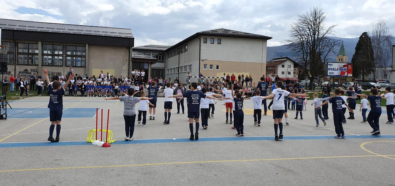
[[[47,82],[49,81],[48,70],[43,68],[43,73],[45,74],[45,79]],[[63,113],[63,94],[66,87],[69,85],[70,80],[74,78],[74,74],[71,74],[69,79],[66,81],[64,86],[59,81],[54,81],[48,85],[48,94],[49,94],[49,121],[51,121],[51,126],[49,127],[49,137],[48,141],[50,142],[58,142],[60,140],[60,121],[62,120]],[[53,138],[53,131],[56,125],[56,138]]]

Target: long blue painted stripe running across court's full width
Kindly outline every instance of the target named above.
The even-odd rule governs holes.
[[[335,139],[333,136],[284,136],[284,140],[347,140],[347,139],[383,139],[395,138],[395,135],[372,136],[366,135],[348,135],[345,139]],[[261,141],[273,140],[273,136],[251,136],[251,137],[203,137],[199,140],[191,141],[189,138],[162,138],[162,139],[141,139],[133,141],[117,140],[111,145],[122,144],[154,144],[154,143],[176,143],[176,142],[221,142],[221,141]],[[74,146],[74,145],[92,145],[86,141],[68,141],[68,142],[18,142],[18,143],[0,143],[0,148],[4,147],[43,147],[43,146]]]

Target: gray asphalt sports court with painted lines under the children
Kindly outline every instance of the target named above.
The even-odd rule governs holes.
[[[335,139],[332,120],[326,126],[322,122],[320,127],[315,126],[314,109],[308,100],[304,120],[293,119],[295,111],[288,110],[290,125],[284,125],[284,140],[274,141],[271,115],[262,116],[260,127],[254,126],[253,117],[248,115],[248,110],[253,109],[252,102],[246,100],[246,136],[236,137],[236,131],[230,129],[232,125],[224,123],[225,106],[218,101],[215,117],[209,118],[209,128],[200,128],[199,140],[190,141],[186,114],[176,114],[174,102],[171,122],[163,125],[163,98],[158,98],[156,120],[147,120],[145,127],[136,121],[135,140],[127,142],[122,140],[125,136],[122,102],[64,97],[61,142],[50,143],[46,142],[47,103],[48,97],[13,101],[10,103],[13,109],[32,111],[29,114],[36,118],[16,114],[20,118],[0,120],[3,129],[0,130],[3,159],[0,176],[5,178],[5,185],[186,185],[191,182],[197,185],[390,185],[395,182],[388,175],[395,165],[395,125],[384,124],[384,113],[380,117],[382,136],[371,136],[370,126],[360,123],[360,112],[355,111],[356,120],[347,120],[343,125],[347,137]],[[84,142],[88,130],[96,124],[96,108],[103,110],[103,125],[107,124],[107,109],[110,109],[109,129],[117,142],[109,148]],[[99,126],[100,116],[99,111]],[[26,152],[28,156],[20,156]],[[48,173],[57,177],[49,178]],[[237,181],[229,179],[234,177]]]

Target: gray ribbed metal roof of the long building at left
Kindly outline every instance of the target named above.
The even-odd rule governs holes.
[[[132,29],[128,29],[128,28],[111,28],[111,27],[103,27],[103,26],[86,26],[86,25],[34,22],[34,21],[11,20],[11,19],[0,19],[0,28],[6,30],[134,38]]]

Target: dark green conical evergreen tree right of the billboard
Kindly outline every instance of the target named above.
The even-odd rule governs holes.
[[[375,68],[372,40],[367,32],[364,32],[361,34],[361,36],[359,36],[351,63],[353,66],[353,76],[358,77],[361,75],[362,81],[365,81],[365,75],[374,72]]]

